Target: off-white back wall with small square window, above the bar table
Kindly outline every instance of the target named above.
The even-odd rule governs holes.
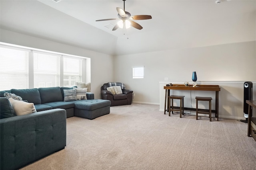
[[[159,104],[159,81],[256,80],[255,41],[122,55],[114,58],[115,81],[134,90],[134,102]],[[144,79],[132,79],[132,66],[144,66]]]

